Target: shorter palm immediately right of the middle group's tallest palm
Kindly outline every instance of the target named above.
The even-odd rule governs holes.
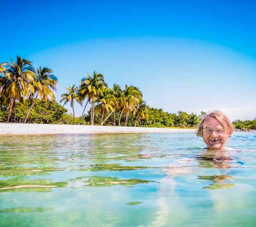
[[[113,96],[111,89],[108,87],[104,87],[102,91],[100,91],[95,102],[99,103],[98,105],[95,106],[95,114],[98,114],[101,112],[101,125],[103,125],[104,122],[107,120],[107,118],[110,116],[110,114],[113,113],[116,99]],[[110,114],[109,114],[109,110],[112,111]],[[108,116],[103,121],[105,113],[107,113]]]

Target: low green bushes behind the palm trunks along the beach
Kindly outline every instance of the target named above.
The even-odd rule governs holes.
[[[24,102],[15,102],[12,108],[12,114],[10,122],[22,123],[28,110],[31,107],[33,100],[26,99]],[[165,112],[161,108],[151,108],[147,106],[148,118],[137,118],[136,115],[129,114],[127,119],[127,126],[134,126],[135,121],[137,126],[141,127],[195,127],[201,120],[200,116],[196,114],[188,114],[183,111],[179,111],[177,114],[171,114]],[[89,125],[90,113],[83,114],[82,119],[80,117],[75,118],[75,124]],[[0,105],[0,122],[5,122],[8,113],[8,106]],[[114,122],[119,121],[119,111],[109,117],[104,125],[113,125]],[[101,124],[101,113],[95,114],[95,125]],[[137,120],[136,120],[137,118]],[[36,124],[73,124],[73,114],[68,114],[68,110],[54,100],[44,101],[37,99],[30,115],[27,119],[27,123]],[[120,125],[125,125],[125,114],[120,119]]]

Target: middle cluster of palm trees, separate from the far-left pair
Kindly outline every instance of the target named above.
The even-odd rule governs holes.
[[[125,85],[124,89],[117,84],[113,88],[108,87],[104,76],[94,71],[92,75],[82,78],[79,85],[72,85],[66,88],[67,92],[61,95],[60,103],[64,105],[70,102],[73,110],[73,124],[75,123],[74,102],[81,106],[85,102],[82,120],[85,108],[90,104],[90,125],[94,125],[95,115],[101,115],[100,125],[103,125],[112,115],[113,125],[116,125],[116,114],[118,113],[118,125],[121,124],[121,118],[125,116],[125,126],[130,114],[136,116],[134,125],[138,119],[148,118],[146,104],[143,100],[142,92],[133,85]]]

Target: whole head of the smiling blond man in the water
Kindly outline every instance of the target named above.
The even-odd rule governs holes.
[[[208,149],[222,150],[233,131],[233,125],[225,114],[212,111],[203,117],[196,130],[196,136],[202,137]]]

